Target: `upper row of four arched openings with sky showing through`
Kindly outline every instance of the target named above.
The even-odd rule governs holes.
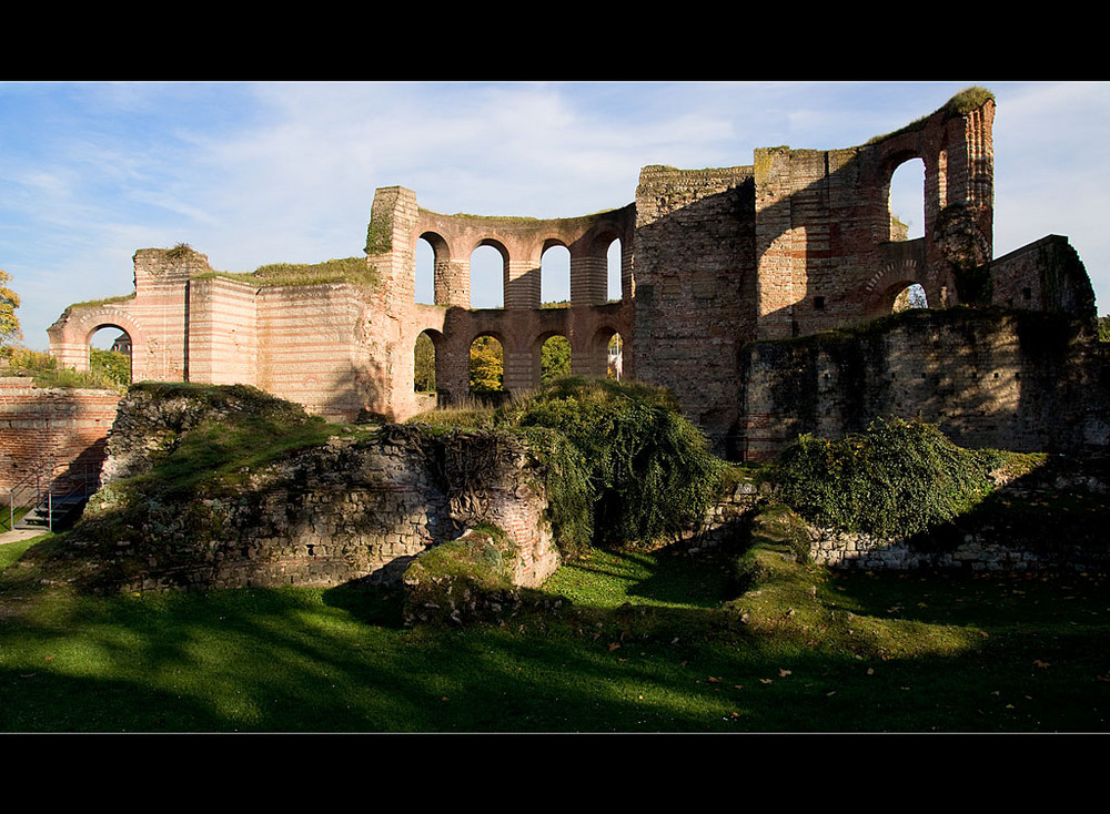
[[[605,299],[622,298],[622,243],[616,237],[605,252]],[[496,246],[480,245],[470,256],[470,292],[472,308],[504,308],[507,258]],[[414,253],[414,302],[435,305],[436,254],[425,237],[416,242]],[[571,250],[561,243],[549,245],[539,260],[541,306],[571,302]]]

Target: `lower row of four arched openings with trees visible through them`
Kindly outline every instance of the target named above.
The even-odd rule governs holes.
[[[604,369],[609,378],[620,380],[624,376],[624,338],[619,333],[607,333],[595,342],[589,352],[597,356],[593,359],[576,359],[571,347],[571,340],[562,334],[553,334],[536,342],[533,353],[535,380],[529,386],[543,385],[555,379],[571,376],[577,370],[598,373]],[[436,344],[441,335],[434,330],[424,330],[416,337],[413,348],[413,390],[428,394],[438,389],[442,380]],[[480,334],[471,342],[468,349],[468,387],[472,395],[500,393],[505,387],[505,349],[500,338],[493,334]]]

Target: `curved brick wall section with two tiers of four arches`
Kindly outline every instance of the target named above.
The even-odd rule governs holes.
[[[440,403],[463,403],[470,395],[470,348],[480,336],[496,338],[504,354],[504,384],[524,393],[539,384],[543,343],[567,338],[572,372],[605,374],[605,346],[614,333],[632,330],[633,207],[572,218],[478,217],[443,215],[421,208],[415,193],[385,187],[374,196],[366,251],[382,278],[381,308],[386,325],[380,359],[387,359],[384,397],[375,410],[404,420],[427,408],[413,391],[413,349],[427,332],[435,346]],[[426,240],[434,252],[433,305],[415,303],[415,251]],[[609,243],[622,242],[623,296],[606,301]],[[543,253],[565,246],[571,256],[571,302],[541,307]],[[472,308],[471,254],[492,246],[502,255],[503,307]],[[626,345],[625,369],[634,349]]]

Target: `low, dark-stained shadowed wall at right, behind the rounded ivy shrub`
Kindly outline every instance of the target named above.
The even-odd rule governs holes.
[[[1110,442],[1107,348],[1058,314],[907,312],[858,333],[753,343],[741,366],[748,460],[879,416],[920,417],[965,447],[1098,455]]]

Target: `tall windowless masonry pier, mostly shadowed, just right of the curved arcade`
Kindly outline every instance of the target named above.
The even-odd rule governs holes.
[[[755,338],[750,167],[645,167],[636,190],[636,377],[670,388],[720,446],[737,420],[737,355]]]

